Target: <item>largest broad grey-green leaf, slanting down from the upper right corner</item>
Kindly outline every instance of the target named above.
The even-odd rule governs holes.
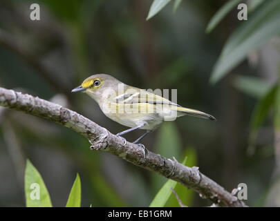
[[[248,19],[242,21],[227,40],[214,66],[210,81],[212,84],[224,77],[243,59],[265,41],[280,33],[280,1],[264,1]]]

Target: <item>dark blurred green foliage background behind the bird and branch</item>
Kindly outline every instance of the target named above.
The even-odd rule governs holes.
[[[248,185],[250,206],[277,206],[270,199],[274,171],[271,117],[248,151],[250,119],[259,97],[244,93],[240,75],[278,77],[277,47],[268,41],[217,84],[213,66],[242,21],[230,12],[210,34],[207,23],[222,0],[171,4],[146,21],[151,1],[37,1],[41,21],[30,20],[32,1],[0,1],[0,85],[62,104],[112,133],[126,127],[111,121],[87,95],[71,89],[95,73],[109,73],[139,88],[175,88],[178,104],[214,115],[216,122],[181,117],[142,141],[149,150],[182,161],[232,191]],[[244,21],[243,21],[244,22]],[[257,59],[256,59],[257,58]],[[79,173],[82,206],[149,206],[167,179],[109,153],[93,152],[88,141],[63,126],[0,109],[0,206],[25,206],[26,159],[41,173],[53,206],[65,206]],[[136,139],[142,131],[127,135]],[[179,194],[187,206],[209,206],[192,190]],[[173,200],[173,203],[171,201]],[[169,205],[176,206],[175,199]]]

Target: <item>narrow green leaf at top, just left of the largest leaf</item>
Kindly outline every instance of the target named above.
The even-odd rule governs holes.
[[[241,0],[227,1],[227,3],[225,3],[225,5],[223,5],[209,21],[205,32],[211,32],[225,17],[225,15],[227,15],[227,13],[230,12],[234,8],[234,6],[236,6],[240,1]]]

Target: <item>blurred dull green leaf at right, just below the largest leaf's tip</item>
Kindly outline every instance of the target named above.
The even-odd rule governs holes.
[[[256,98],[263,97],[271,88],[270,83],[260,77],[236,76],[232,83],[241,92]]]

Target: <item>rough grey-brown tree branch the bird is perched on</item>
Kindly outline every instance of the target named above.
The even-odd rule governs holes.
[[[202,198],[207,198],[219,206],[246,206],[234,195],[225,191],[209,177],[203,175],[198,167],[188,167],[174,160],[167,159],[151,151],[145,151],[137,144],[124,141],[90,119],[64,108],[58,104],[48,102],[39,97],[24,95],[15,90],[0,88],[0,105],[22,111],[30,115],[44,117],[50,121],[62,124],[80,133],[91,143],[91,149],[102,150],[122,157],[127,162],[160,173],[169,179],[197,191]]]

